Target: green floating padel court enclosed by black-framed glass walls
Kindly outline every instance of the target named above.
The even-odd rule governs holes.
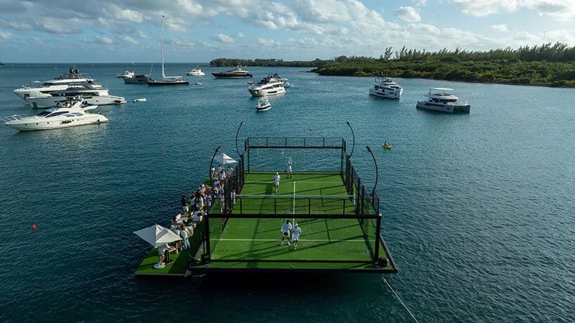
[[[188,274],[397,271],[379,198],[361,183],[341,138],[247,138],[224,192],[198,228]],[[302,229],[296,249],[281,244],[286,220]]]

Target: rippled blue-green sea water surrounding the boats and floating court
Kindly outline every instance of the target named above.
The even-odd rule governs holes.
[[[167,224],[215,147],[235,156],[243,120],[240,138],[351,143],[349,121],[368,189],[373,148],[382,232],[399,267],[386,277],[420,322],[575,317],[574,89],[397,79],[397,102],[367,95],[370,78],[253,67],[257,79],[280,72],[293,84],[257,113],[246,80],[148,88],[115,77],[148,65],[77,67],[112,95],[148,101],[103,107],[110,122],[100,126],[0,127],[1,321],[409,321],[377,275],[134,277],[148,246],[131,232]],[[193,67],[168,65],[167,74]],[[37,112],[11,91],[67,68],[0,67],[0,117]],[[471,113],[416,110],[430,86],[454,88]]]

